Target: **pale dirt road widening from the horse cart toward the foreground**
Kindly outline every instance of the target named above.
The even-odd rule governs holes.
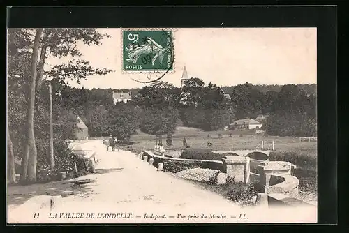
[[[78,180],[77,195],[53,199],[53,207],[31,198],[10,206],[12,223],[237,223],[245,210],[200,186],[158,172],[129,151],[106,151],[100,140],[81,144],[97,151],[96,174]],[[67,185],[67,184],[66,184]],[[68,184],[72,186],[72,184]],[[76,187],[75,187],[76,188]],[[46,199],[47,200],[47,199]],[[42,202],[42,201],[41,201]],[[34,215],[39,218],[34,218]],[[249,213],[250,220],[257,212]],[[204,216],[207,218],[203,218]],[[258,220],[263,216],[258,214]],[[261,218],[262,217],[262,218]],[[255,222],[255,220],[252,220]]]

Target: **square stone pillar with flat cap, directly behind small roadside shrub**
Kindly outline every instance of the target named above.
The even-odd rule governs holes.
[[[223,171],[234,178],[235,183],[246,183],[246,158],[243,156],[223,156]]]

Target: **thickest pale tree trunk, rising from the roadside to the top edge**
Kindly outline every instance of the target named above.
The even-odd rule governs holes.
[[[36,181],[36,144],[34,135],[34,107],[35,107],[35,86],[38,63],[38,50],[40,45],[41,34],[43,29],[37,29],[34,39],[33,54],[31,57],[31,80],[29,85],[29,105],[28,105],[28,120],[27,120],[27,144],[24,151],[24,160],[22,162],[22,181],[29,183]],[[22,177],[23,176],[23,177]]]

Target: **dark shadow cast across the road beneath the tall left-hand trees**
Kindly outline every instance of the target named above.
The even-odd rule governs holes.
[[[47,195],[67,197],[79,195],[88,197],[93,194],[91,183],[94,179],[73,179],[70,181],[54,181],[50,183],[35,183],[27,186],[15,185],[8,187],[8,204],[20,205],[31,197]]]

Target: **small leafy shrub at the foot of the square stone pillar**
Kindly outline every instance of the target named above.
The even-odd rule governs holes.
[[[245,184],[228,183],[227,196],[233,202],[237,202],[241,206],[253,206],[253,197],[257,195],[257,191],[252,183]]]

